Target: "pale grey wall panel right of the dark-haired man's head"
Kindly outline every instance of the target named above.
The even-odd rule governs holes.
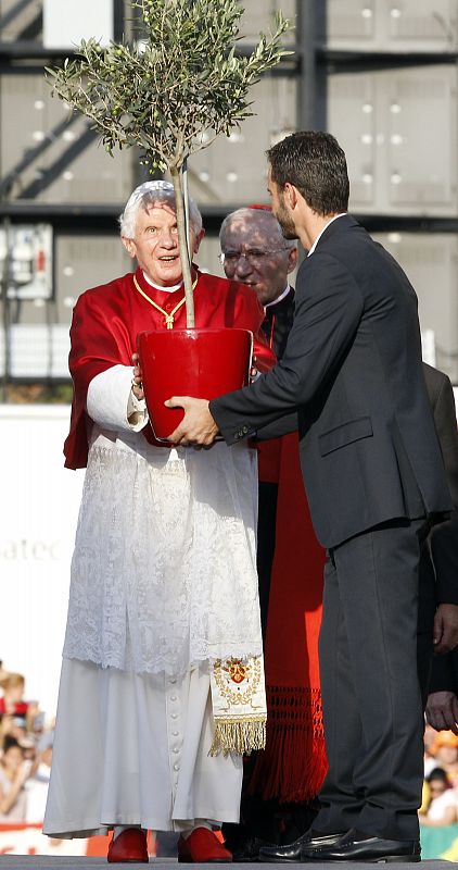
[[[353,210],[455,215],[457,70],[329,76],[328,128],[345,149]]]

